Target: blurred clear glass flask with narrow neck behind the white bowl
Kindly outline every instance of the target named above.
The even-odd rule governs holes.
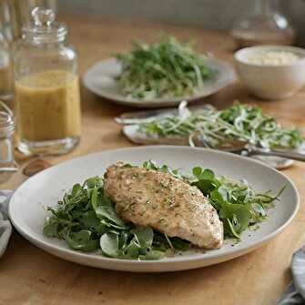
[[[289,19],[278,12],[276,1],[256,0],[255,3],[254,14],[242,16],[231,30],[237,47],[292,45],[295,31]]]

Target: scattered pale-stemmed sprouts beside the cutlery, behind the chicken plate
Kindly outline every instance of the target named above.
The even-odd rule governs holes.
[[[140,123],[138,132],[147,137],[191,137],[202,135],[211,147],[241,140],[265,148],[297,148],[303,143],[300,130],[281,127],[275,117],[260,107],[235,103],[223,110],[207,105],[193,112],[182,102],[178,115],[156,117]]]

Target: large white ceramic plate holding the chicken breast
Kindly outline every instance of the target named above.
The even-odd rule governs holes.
[[[182,168],[187,172],[195,166],[213,168],[218,175],[238,180],[247,178],[250,185],[257,190],[272,189],[276,192],[284,185],[286,189],[276,208],[269,210],[269,218],[261,223],[258,230],[244,232],[242,240],[234,247],[231,246],[232,240],[227,239],[221,249],[208,250],[205,253],[191,250],[182,256],[155,261],[108,259],[101,255],[68,249],[65,242],[46,238],[42,234],[47,215],[46,207],[55,206],[56,201],[73,184],[92,176],[103,175],[107,166],[117,160],[140,165],[147,159],[166,163],[172,168]],[[298,191],[290,179],[257,161],[202,148],[154,146],[109,150],[48,168],[26,180],[15,191],[9,214],[15,229],[25,239],[59,258],[97,268],[159,272],[204,267],[257,249],[279,234],[296,215],[298,208]]]

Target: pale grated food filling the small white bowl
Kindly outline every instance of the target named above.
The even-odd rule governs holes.
[[[302,58],[298,54],[290,51],[264,51],[247,56],[249,64],[261,66],[281,66],[294,64]]]

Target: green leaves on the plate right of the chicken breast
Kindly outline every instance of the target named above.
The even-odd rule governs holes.
[[[217,178],[210,169],[193,168],[196,177],[192,185],[201,190],[219,213],[224,224],[225,237],[240,239],[240,234],[261,222],[267,216],[284,188],[274,196],[270,191],[257,193],[246,182]]]

